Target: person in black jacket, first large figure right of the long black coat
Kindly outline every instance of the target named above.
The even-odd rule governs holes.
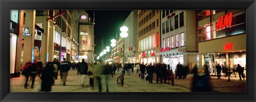
[[[66,58],[60,63],[60,73],[63,78],[63,86],[66,86],[66,80],[68,76],[68,71],[70,70],[69,63],[66,61]]]

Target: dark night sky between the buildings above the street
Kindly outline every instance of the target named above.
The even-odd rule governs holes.
[[[93,20],[93,11],[86,11]],[[125,19],[131,13],[131,10],[95,10],[95,25],[94,25],[94,51],[97,56],[99,53],[106,49],[107,45],[110,46],[110,40],[116,37],[116,33],[119,34],[119,30]],[[103,49],[102,47],[102,36],[103,36]]]

